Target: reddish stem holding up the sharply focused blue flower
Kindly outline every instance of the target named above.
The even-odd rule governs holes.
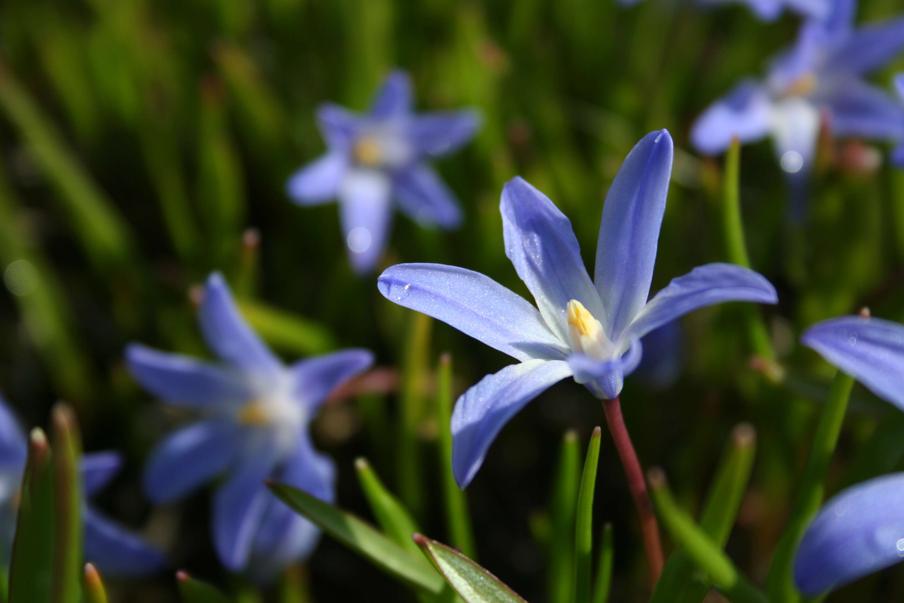
[[[659,542],[659,526],[656,523],[656,515],[653,513],[653,504],[646,493],[646,481],[644,470],[640,468],[634,444],[627,433],[625,419],[621,414],[621,403],[615,400],[603,400],[603,410],[606,412],[606,422],[609,433],[616,443],[618,457],[625,467],[627,486],[631,490],[634,504],[637,507],[637,515],[640,519],[640,532],[644,539],[646,562],[650,569],[650,584],[655,587],[659,574],[663,572],[663,547]]]

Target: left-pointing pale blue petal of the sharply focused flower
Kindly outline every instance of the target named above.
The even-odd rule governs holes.
[[[523,297],[479,272],[442,264],[397,264],[377,281],[384,297],[452,325],[517,358],[562,359],[569,348]]]

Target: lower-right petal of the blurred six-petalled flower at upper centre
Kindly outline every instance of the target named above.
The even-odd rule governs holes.
[[[461,223],[455,195],[429,165],[411,166],[393,184],[399,209],[422,226],[452,229]]]

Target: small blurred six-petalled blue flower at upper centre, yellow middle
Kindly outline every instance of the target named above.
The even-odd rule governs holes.
[[[325,104],[317,117],[326,155],[289,178],[287,192],[301,205],[338,198],[353,268],[366,273],[380,261],[390,231],[392,203],[422,225],[451,229],[461,221],[455,196],[428,159],[474,136],[474,111],[415,115],[404,71],[384,80],[370,110],[357,116]]]

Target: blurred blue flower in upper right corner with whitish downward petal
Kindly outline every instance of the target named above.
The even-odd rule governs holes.
[[[766,80],[743,80],[707,108],[691,131],[697,150],[717,154],[732,137],[771,136],[782,169],[806,174],[822,116],[834,136],[904,139],[904,107],[863,79],[904,49],[904,18],[855,30],[855,9],[854,0],[835,0],[826,20],[801,26]]]

